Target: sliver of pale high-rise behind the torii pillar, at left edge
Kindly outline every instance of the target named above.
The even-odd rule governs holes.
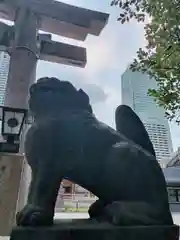
[[[10,56],[6,52],[0,52],[0,105],[4,103],[5,89],[9,72]]]

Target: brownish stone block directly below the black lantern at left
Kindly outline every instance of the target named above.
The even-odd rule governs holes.
[[[15,221],[23,155],[0,156],[0,236],[8,236]]]

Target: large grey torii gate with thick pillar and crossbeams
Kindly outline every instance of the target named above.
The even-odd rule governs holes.
[[[0,24],[0,45],[11,56],[4,105],[26,108],[39,59],[78,67],[86,64],[85,48],[54,42],[38,30],[84,41],[88,34],[100,34],[109,15],[54,0],[0,0],[0,18],[14,21],[13,27]],[[0,161],[9,173],[0,183],[0,236],[9,235],[14,223],[22,162],[10,155]]]

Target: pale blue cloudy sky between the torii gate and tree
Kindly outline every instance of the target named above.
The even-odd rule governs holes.
[[[116,21],[118,9],[110,0],[63,0],[69,4],[110,13],[110,20],[99,37],[88,36],[85,42],[53,36],[56,41],[85,46],[87,66],[84,69],[39,62],[37,77],[55,76],[83,88],[90,96],[97,117],[114,126],[114,111],[121,103],[121,74],[145,45],[143,24],[132,21],[121,25]],[[171,124],[174,149],[180,146],[180,126]]]

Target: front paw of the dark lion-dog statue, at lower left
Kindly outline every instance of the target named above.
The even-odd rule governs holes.
[[[53,224],[53,214],[29,204],[17,213],[16,223],[18,226],[50,226]]]

